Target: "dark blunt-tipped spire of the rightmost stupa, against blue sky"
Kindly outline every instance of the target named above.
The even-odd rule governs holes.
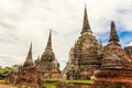
[[[114,21],[111,21],[110,38],[109,42],[119,42],[119,36],[117,34]]]

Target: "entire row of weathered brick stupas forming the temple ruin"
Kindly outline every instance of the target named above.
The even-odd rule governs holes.
[[[109,43],[103,46],[101,42],[97,41],[92,34],[85,7],[82,30],[69,52],[66,67],[62,72],[59,70],[59,63],[52,48],[51,31],[45,52],[41,58],[38,57],[34,62],[31,44],[26,61],[19,67],[15,81],[37,86],[42,79],[95,79],[95,88],[96,86],[103,88],[105,84],[116,85],[117,82],[128,86],[132,82],[132,46],[123,50],[119,42],[113,21],[111,22]]]

